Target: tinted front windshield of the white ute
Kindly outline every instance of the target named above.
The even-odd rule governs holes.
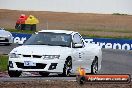
[[[24,45],[50,45],[50,46],[71,46],[71,35],[65,33],[43,32],[33,34]]]

